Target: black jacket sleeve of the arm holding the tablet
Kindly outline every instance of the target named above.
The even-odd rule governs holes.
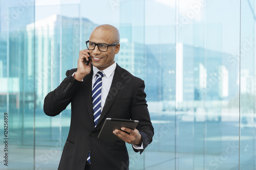
[[[144,151],[148,144],[152,142],[154,135],[154,128],[151,123],[150,114],[146,104],[146,93],[144,92],[145,84],[141,80],[136,94],[134,96],[131,109],[131,118],[139,120],[139,124],[136,129],[140,132],[143,142],[143,150],[140,150],[140,154]],[[134,148],[133,148],[134,149]],[[139,152],[134,149],[135,152]]]

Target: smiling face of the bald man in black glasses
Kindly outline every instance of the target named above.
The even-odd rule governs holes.
[[[90,41],[112,44],[115,43],[114,37],[114,33],[110,30],[96,29],[92,32]],[[119,52],[119,48],[120,44],[117,44],[116,46],[109,46],[106,52],[101,52],[98,46],[95,46],[94,50],[89,50],[93,66],[97,67],[99,70],[103,70],[114,64],[115,54]]]

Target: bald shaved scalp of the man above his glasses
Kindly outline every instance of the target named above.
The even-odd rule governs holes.
[[[120,41],[120,35],[119,35],[119,31],[117,30],[117,28],[115,28],[114,26],[105,24],[105,25],[100,25],[98,27],[96,27],[91,35],[90,35],[90,39],[92,36],[94,36],[94,34],[98,34],[98,33],[102,33],[104,32],[106,35],[106,38],[108,38],[109,43],[115,43],[115,42],[119,42]]]

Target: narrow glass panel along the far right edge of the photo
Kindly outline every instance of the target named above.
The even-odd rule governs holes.
[[[241,1],[240,169],[255,169],[255,1]]]

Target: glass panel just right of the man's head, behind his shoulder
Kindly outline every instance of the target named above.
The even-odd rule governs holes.
[[[145,80],[145,48],[144,48],[144,1],[120,1],[120,52],[116,62],[133,75]],[[132,15],[127,15],[126,12]],[[140,16],[140,17],[136,17]],[[134,19],[136,17],[136,19]],[[138,155],[126,144],[130,157],[130,169],[143,169],[145,155]]]

